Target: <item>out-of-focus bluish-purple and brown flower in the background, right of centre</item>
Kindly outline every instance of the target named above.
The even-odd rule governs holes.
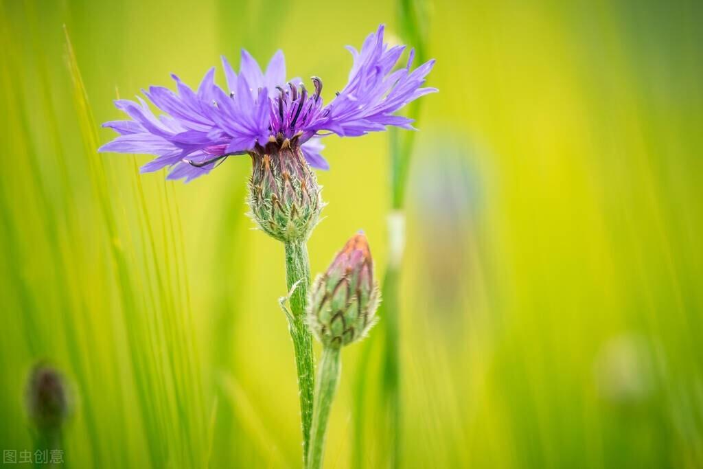
[[[408,217],[420,243],[415,249],[423,269],[416,281],[423,285],[420,308],[432,315],[432,326],[446,328],[446,335],[463,341],[458,321],[476,317],[484,308],[486,272],[489,259],[481,246],[486,242],[485,188],[477,161],[490,160],[489,154],[468,139],[441,136],[429,141],[418,154],[436,151],[432,158],[413,161],[413,179],[408,196],[416,211]],[[432,307],[429,307],[429,305]],[[468,312],[467,312],[468,311]],[[490,318],[487,318],[490,319]]]

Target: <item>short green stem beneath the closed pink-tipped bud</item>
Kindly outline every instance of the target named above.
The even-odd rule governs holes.
[[[330,418],[332,401],[335,399],[337,383],[340,380],[340,347],[324,347],[315,391],[315,412],[313,415],[311,444],[308,455],[308,469],[320,469],[325,452],[325,433]]]

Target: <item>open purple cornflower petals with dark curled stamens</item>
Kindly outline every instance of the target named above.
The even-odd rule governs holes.
[[[115,101],[131,120],[105,122],[103,127],[120,136],[99,151],[157,155],[141,167],[142,172],[169,166],[168,179],[186,181],[207,174],[230,155],[262,154],[276,147],[299,148],[312,167],[328,169],[321,155],[322,136],[360,136],[388,125],[413,129],[412,120],[393,113],[437,91],[421,87],[434,60],[411,70],[411,50],[406,67],[393,71],[406,46],[384,44],[383,30],[381,25],[369,34],[361,51],[347,48],[354,56],[349,82],[328,105],[323,105],[318,77],[312,77],[310,91],[299,79],[285,82],[283,52],[276,52],[262,72],[242,51],[239,75],[222,58],[228,91],[214,84],[211,68],[197,91],[176,75],[172,75],[176,91],[163,86],[143,90],[163,111],[159,117],[142,98]]]

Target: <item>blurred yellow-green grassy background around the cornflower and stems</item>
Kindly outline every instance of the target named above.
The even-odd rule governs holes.
[[[379,398],[382,318],[344,350],[328,467],[703,467],[702,6],[429,5],[440,92],[406,200],[401,428]],[[329,101],[343,46],[397,32],[398,6],[0,8],[0,449],[32,449],[23,388],[46,359],[71,383],[70,467],[297,467],[283,248],[245,217],[250,162],[167,182],[138,174],[146,156],[98,155],[98,125],[116,96],[170,72],[195,86],[241,47],[283,49]],[[325,143],[312,269],[361,228],[381,276],[388,135]]]

